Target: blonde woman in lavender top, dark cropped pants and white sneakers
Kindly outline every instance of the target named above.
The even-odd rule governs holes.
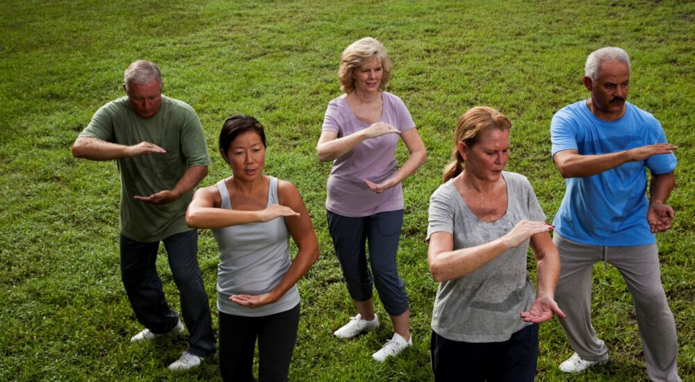
[[[377,40],[363,38],[347,47],[338,70],[345,94],[328,103],[316,147],[320,160],[333,161],[328,226],[357,308],[357,315],[334,335],[352,338],[377,329],[375,286],[395,331],[373,354],[380,362],[412,344],[408,297],[396,264],[404,206],[401,182],[427,159],[403,101],[384,92],[390,76],[391,60]],[[410,153],[400,168],[395,160],[399,138]]]

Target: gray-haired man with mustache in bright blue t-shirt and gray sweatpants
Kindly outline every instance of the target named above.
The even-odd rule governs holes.
[[[562,108],[550,124],[553,160],[567,189],[554,221],[562,262],[555,300],[567,314],[560,324],[575,351],[560,369],[583,372],[608,360],[591,326],[591,272],[603,261],[619,269],[635,301],[650,378],[680,381],[676,324],[655,236],[675,217],[665,202],[675,183],[678,147],[667,142],[653,115],[626,102],[630,58],[623,49],[591,53],[583,81],[591,97]]]

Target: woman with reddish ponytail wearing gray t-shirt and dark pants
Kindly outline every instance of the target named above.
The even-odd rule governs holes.
[[[430,198],[427,261],[440,283],[432,313],[435,381],[533,381],[538,323],[564,317],[553,300],[560,267],[553,226],[528,180],[503,171],[511,127],[492,108],[462,115],[454,162]],[[526,271],[529,244],[537,293]]]

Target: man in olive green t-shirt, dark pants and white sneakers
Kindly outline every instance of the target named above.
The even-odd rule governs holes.
[[[131,342],[180,333],[156,271],[159,242],[181,294],[188,349],[169,366],[190,369],[215,351],[208,296],[197,260],[197,231],[185,215],[193,188],[208,174],[210,155],[195,110],[162,95],[159,68],[136,61],[125,71],[127,97],[106,103],[72,147],[76,158],[117,161],[121,178],[121,278],[145,330]]]

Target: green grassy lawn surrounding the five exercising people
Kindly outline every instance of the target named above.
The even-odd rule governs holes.
[[[530,178],[551,219],[564,182],[551,163],[550,117],[587,97],[587,54],[632,56],[629,100],[662,122],[676,156],[676,224],[659,235],[662,278],[678,328],[680,375],[695,380],[695,3],[688,1],[31,1],[0,13],[0,380],[217,380],[165,369],[183,338],[129,344],[140,331],[118,269],[114,163],[76,160],[70,146],[92,114],[123,95],[124,68],[158,63],[165,94],[199,113],[213,156],[202,185],[228,176],[215,142],[224,118],[267,126],[266,173],[297,185],[321,257],[300,282],[302,320],[292,381],[427,381],[436,283],[426,264],[427,202],[448,161],[455,121],[475,105],[512,119],[507,169]],[[394,63],[389,91],[409,107],[430,154],[404,182],[399,265],[411,299],[414,347],[384,364],[370,354],[390,324],[350,341],[332,331],[354,315],[327,234],[330,165],[315,145],[347,44],[370,35]],[[398,155],[406,151],[400,147]],[[214,297],[217,253],[201,232],[199,262]],[[530,263],[532,264],[532,263]],[[158,267],[179,306],[165,257]],[[533,267],[531,267],[533,272]],[[211,300],[211,306],[215,306]],[[214,309],[214,308],[213,308]],[[573,381],[646,380],[632,300],[616,269],[596,265],[594,326],[612,361]],[[216,309],[213,311],[216,312]],[[384,315],[377,301],[377,313]],[[216,324],[216,317],[213,318]],[[557,322],[541,326],[539,381],[564,381],[571,355]]]

